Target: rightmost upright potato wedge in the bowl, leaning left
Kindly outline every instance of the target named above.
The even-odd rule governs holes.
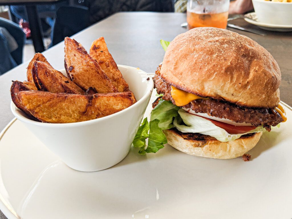
[[[129,91],[127,82],[124,80],[118,69],[117,63],[107,49],[104,37],[100,37],[93,41],[90,48],[90,56],[98,62],[107,77],[109,77],[114,86],[118,88],[119,92]]]

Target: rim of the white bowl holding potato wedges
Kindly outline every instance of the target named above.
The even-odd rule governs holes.
[[[151,94],[152,91],[154,89],[154,82],[152,77],[147,74],[145,71],[141,70],[140,68],[136,68],[136,67],[132,67],[132,66],[127,66],[127,65],[117,65],[118,67],[125,67],[128,69],[133,69],[136,71],[139,71],[141,79],[143,78],[148,78],[149,80],[147,80],[147,88],[146,88],[146,92],[145,94],[142,96],[142,98],[140,98],[140,100],[138,100],[137,102],[135,102],[133,105],[127,107],[126,109],[123,109],[119,112],[116,112],[114,114],[105,116],[105,117],[101,117],[101,118],[97,118],[97,119],[91,119],[91,120],[87,120],[87,121],[81,121],[81,122],[72,122],[72,123],[46,123],[46,122],[39,122],[39,121],[34,121],[31,119],[26,118],[25,116],[23,116],[21,113],[23,113],[20,109],[18,109],[15,104],[13,103],[13,101],[11,100],[11,104],[10,104],[10,108],[11,108],[11,112],[13,113],[13,115],[19,119],[22,122],[28,123],[28,124],[32,124],[32,125],[36,125],[36,126],[44,126],[44,127],[74,127],[74,126],[84,126],[84,125],[89,125],[89,124],[93,124],[96,122],[102,122],[104,120],[113,118],[113,117],[117,117],[120,114],[126,113],[127,111],[131,110],[132,108],[141,105],[142,102],[144,102]],[[60,69],[58,71],[62,71],[65,69]],[[142,73],[142,74],[141,74]]]

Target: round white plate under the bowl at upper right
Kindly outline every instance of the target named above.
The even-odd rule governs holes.
[[[276,24],[267,24],[258,22],[258,18],[256,16],[255,12],[247,13],[244,15],[244,20],[248,23],[251,23],[253,25],[257,25],[258,27],[264,29],[264,30],[270,30],[270,31],[277,31],[277,32],[289,32],[292,31],[292,25],[276,25]]]

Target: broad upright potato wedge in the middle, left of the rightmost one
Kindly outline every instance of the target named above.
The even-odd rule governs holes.
[[[98,93],[117,92],[117,88],[97,61],[76,40],[65,38],[65,69],[68,77],[79,87],[95,88]]]

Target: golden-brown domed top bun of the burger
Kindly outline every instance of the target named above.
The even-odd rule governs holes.
[[[201,97],[244,107],[274,108],[281,72],[272,55],[252,39],[213,27],[198,27],[171,41],[161,77]]]

